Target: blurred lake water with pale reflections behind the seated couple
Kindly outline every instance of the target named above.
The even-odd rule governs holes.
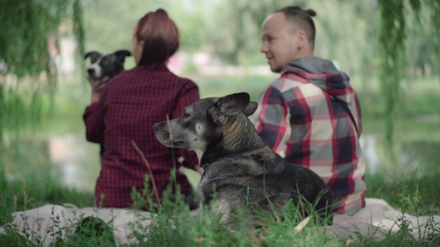
[[[428,124],[415,121],[410,126],[398,128],[396,149],[399,151],[397,162],[392,165],[387,161],[389,155],[384,147],[386,142],[383,141],[381,126],[384,126],[382,121],[364,121],[361,145],[369,174],[399,172],[404,176],[422,176],[430,169],[439,169],[438,119]],[[3,161],[10,180],[23,179],[42,167],[50,166],[54,168],[54,176],[65,185],[85,191],[94,190],[100,172],[99,147],[85,140],[81,119],[54,119],[20,135],[6,134]],[[191,183],[197,185],[199,175],[195,172],[188,175]]]

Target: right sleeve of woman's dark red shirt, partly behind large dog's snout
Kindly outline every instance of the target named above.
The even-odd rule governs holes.
[[[176,107],[173,111],[173,116],[170,117],[170,119],[174,119],[176,117],[179,117],[184,113],[184,108],[199,99],[199,89],[197,88],[197,85],[188,80],[184,83],[181,93],[179,94],[179,97],[176,99]],[[199,163],[199,158],[197,158],[197,154],[195,154],[194,151],[189,150],[183,150],[181,148],[179,150],[179,158],[181,159],[179,163],[181,163],[184,167],[194,169],[194,166]],[[183,159],[182,159],[183,158]]]

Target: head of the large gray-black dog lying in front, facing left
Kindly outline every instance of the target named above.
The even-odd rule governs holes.
[[[232,126],[236,115],[252,115],[258,104],[248,93],[199,99],[176,119],[153,125],[157,140],[167,147],[194,150],[201,158],[207,146]]]

